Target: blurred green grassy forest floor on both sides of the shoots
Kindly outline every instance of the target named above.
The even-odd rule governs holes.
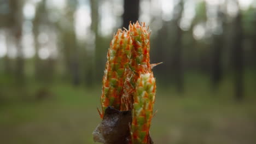
[[[245,79],[245,99],[234,100],[232,81],[212,91],[203,76],[189,76],[185,92],[158,86],[150,134],[156,144],[256,143],[255,79]],[[0,143],[94,143],[101,87],[8,84],[0,91]]]

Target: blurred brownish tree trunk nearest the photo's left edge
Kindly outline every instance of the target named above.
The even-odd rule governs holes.
[[[23,22],[23,1],[19,0],[10,0],[10,29],[12,29],[14,38],[15,38],[15,46],[17,49],[17,58],[16,58],[16,67],[15,67],[15,76],[16,81],[18,83],[24,82],[24,58],[22,54],[22,22]]]

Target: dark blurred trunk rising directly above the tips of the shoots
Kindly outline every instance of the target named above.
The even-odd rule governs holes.
[[[128,29],[129,23],[136,22],[139,17],[139,0],[124,0],[123,27]]]

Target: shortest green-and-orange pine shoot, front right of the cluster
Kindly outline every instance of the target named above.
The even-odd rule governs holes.
[[[153,73],[141,74],[133,96],[131,140],[133,144],[147,144],[155,103],[155,78]]]

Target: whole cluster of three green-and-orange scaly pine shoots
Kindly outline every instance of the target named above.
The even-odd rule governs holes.
[[[145,23],[118,29],[107,53],[101,95],[102,112],[108,106],[131,111],[130,134],[132,144],[146,144],[155,102],[155,78],[150,64],[150,32]]]

